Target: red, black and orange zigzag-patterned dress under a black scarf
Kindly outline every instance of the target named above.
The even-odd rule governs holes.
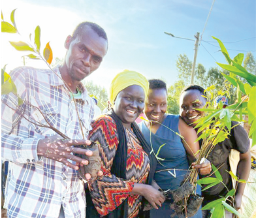
[[[125,129],[127,138],[127,167],[126,178],[117,178],[110,173],[113,159],[118,148],[118,132],[112,117],[102,115],[93,125],[89,138],[98,142],[101,156],[103,179],[89,185],[89,191],[97,212],[107,215],[115,210],[128,198],[128,217],[136,217],[141,209],[142,196],[132,195],[134,183],[146,183],[150,172],[150,160],[140,146],[132,129]]]

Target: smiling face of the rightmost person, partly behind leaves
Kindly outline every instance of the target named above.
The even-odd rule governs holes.
[[[206,99],[201,95],[202,93],[199,90],[190,89],[184,91],[180,96],[180,116],[187,125],[195,127],[197,123],[194,122],[204,115],[204,112],[197,110],[197,108],[203,108],[206,104]]]

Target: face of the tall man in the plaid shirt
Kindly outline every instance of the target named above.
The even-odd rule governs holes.
[[[84,27],[75,39],[67,37],[65,63],[71,80],[81,81],[97,70],[106,55],[107,46],[108,42],[99,37],[91,27]]]

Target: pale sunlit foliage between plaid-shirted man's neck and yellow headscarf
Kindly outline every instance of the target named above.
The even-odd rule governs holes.
[[[107,106],[108,101],[108,93],[104,87],[96,85],[93,81],[83,81],[86,89],[88,90],[89,96],[95,97],[97,99],[99,108],[103,111],[104,108]]]

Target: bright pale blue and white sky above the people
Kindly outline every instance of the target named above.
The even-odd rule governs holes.
[[[37,25],[41,28],[42,50],[50,41],[54,57],[63,58],[67,35],[86,20],[101,25],[108,35],[108,54],[101,67],[86,78],[106,89],[123,69],[136,70],[147,78],[163,78],[168,86],[174,84],[178,55],[187,54],[193,61],[194,42],[172,38],[164,31],[187,39],[195,39],[199,32],[202,40],[197,63],[202,63],[206,70],[217,67],[216,61],[225,63],[212,36],[232,42],[225,43],[231,57],[247,51],[256,56],[256,1],[216,0],[213,7],[212,3],[212,0],[3,0],[5,21],[10,22],[10,12],[17,8],[16,24],[23,39],[2,34],[1,67],[8,64],[8,72],[23,65],[21,56],[25,54],[14,50],[8,40],[28,41],[29,33],[34,33]],[[41,62],[26,60],[26,65],[46,68]]]

